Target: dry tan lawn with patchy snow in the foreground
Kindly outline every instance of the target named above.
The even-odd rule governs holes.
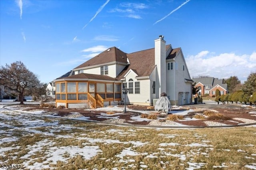
[[[0,163],[22,169],[256,169],[256,127],[117,127],[2,105],[0,125]]]

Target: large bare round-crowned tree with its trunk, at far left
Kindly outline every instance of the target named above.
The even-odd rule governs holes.
[[[21,61],[0,68],[0,84],[17,93],[20,104],[23,104],[24,94],[37,87],[39,83],[37,75],[29,71]]]

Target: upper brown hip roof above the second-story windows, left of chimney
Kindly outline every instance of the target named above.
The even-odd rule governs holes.
[[[106,64],[114,61],[120,62],[120,63],[127,63],[126,53],[124,53],[123,51],[121,51],[116,47],[111,47],[106,49],[102,53],[96,55],[95,57],[89,59],[88,61],[82,63],[81,65],[79,65],[74,69],[79,69],[79,68],[88,67],[92,65]]]

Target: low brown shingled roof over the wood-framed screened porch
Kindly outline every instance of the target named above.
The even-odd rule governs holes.
[[[97,74],[87,74],[87,73],[80,73],[76,75],[71,75],[68,77],[60,77],[58,79],[95,79],[95,80],[107,80],[107,81],[116,81],[116,79],[109,77],[107,75],[97,75]],[[58,80],[56,79],[56,80]]]

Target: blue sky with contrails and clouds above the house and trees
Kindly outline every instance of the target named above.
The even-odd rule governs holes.
[[[0,65],[22,61],[48,83],[108,47],[181,47],[191,77],[256,71],[255,0],[1,0]]]

